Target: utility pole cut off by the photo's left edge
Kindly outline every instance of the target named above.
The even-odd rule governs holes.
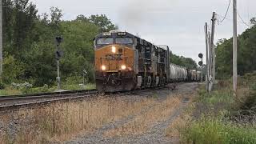
[[[0,0],[0,77],[2,76],[2,0]]]

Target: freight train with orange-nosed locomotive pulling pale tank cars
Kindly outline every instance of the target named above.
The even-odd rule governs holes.
[[[98,34],[94,52],[99,91],[129,91],[201,79],[197,70],[170,63],[169,46],[155,46],[127,32]]]

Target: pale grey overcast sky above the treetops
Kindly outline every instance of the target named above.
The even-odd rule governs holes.
[[[194,58],[205,53],[204,24],[210,23],[212,12],[218,18],[226,13],[229,0],[31,0],[39,13],[49,13],[50,6],[63,10],[65,20],[78,14],[106,14],[120,30],[139,34],[155,45],[168,45],[174,54]],[[245,22],[256,17],[255,0],[238,0],[238,13]],[[216,27],[215,42],[232,36],[232,3],[230,18]],[[248,26],[238,18],[238,33]]]

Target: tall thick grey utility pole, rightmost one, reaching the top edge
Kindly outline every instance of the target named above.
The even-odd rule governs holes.
[[[233,88],[234,96],[237,94],[238,85],[238,12],[237,0],[233,0]]]

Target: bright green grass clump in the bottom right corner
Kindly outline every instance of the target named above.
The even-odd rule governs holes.
[[[201,118],[182,132],[187,143],[197,144],[253,144],[256,143],[256,127],[237,126],[218,118]]]

